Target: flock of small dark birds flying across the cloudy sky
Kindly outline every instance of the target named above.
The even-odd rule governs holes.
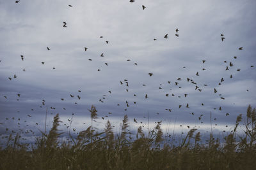
[[[20,1],[15,1],[15,3],[19,3],[19,2],[20,2]],[[134,0],[131,0],[130,2],[131,2],[131,3],[134,3]],[[72,8],[72,5],[69,4],[68,6]],[[146,6],[143,5],[143,6],[142,6],[142,9],[145,10],[145,8],[146,8]],[[67,22],[63,22],[63,28],[65,29],[65,28],[67,28],[67,26],[68,26]],[[177,38],[179,38],[178,32],[179,32],[179,29],[178,29],[178,28],[175,29],[175,33],[174,33],[174,34],[175,34],[175,36],[177,36]],[[103,36],[99,36],[99,38],[103,38]],[[164,38],[164,39],[168,39],[168,38],[169,38],[169,37],[168,37],[168,34],[165,34],[165,35],[163,34],[163,38]],[[225,37],[224,37],[223,34],[220,35],[220,38],[221,38],[221,41],[224,41],[224,40],[225,40]],[[153,38],[152,38],[152,39],[153,39]],[[153,40],[156,41],[157,39],[154,38]],[[106,44],[109,44],[109,41],[106,40],[105,42],[106,42]],[[49,46],[47,46],[46,50],[51,51],[51,48],[50,48]],[[84,52],[87,52],[88,50],[90,50],[90,48],[84,47]],[[238,50],[243,50],[243,47],[239,47]],[[105,56],[104,56],[104,53],[100,53],[99,56],[100,56],[100,57],[105,57]],[[20,55],[20,59],[21,59],[22,61],[24,61],[24,60],[26,60],[26,56]],[[234,59],[236,60],[237,57],[235,56]],[[92,61],[92,59],[88,59],[88,60]],[[130,60],[130,59],[127,59],[127,61],[129,62],[129,61],[131,61],[131,60]],[[0,60],[0,62],[1,62],[1,60]],[[205,62],[207,62],[207,61],[206,61],[206,60],[202,60],[202,64],[205,64]],[[224,62],[225,64],[227,64],[227,66],[225,66],[225,71],[229,71],[231,67],[234,67],[234,61],[227,61],[227,60],[225,60],[225,61],[223,61],[223,62]],[[42,65],[46,64],[44,61],[42,61],[41,63],[42,63]],[[105,64],[106,64],[106,66],[108,66],[108,63],[107,63],[107,62],[106,62]],[[135,66],[138,66],[137,62],[134,62],[134,65],[135,65]],[[250,67],[253,67],[253,66],[250,66]],[[185,68],[185,66],[184,66],[184,68]],[[56,67],[52,67],[52,69],[56,69]],[[23,71],[26,71],[26,69],[24,68]],[[98,68],[97,71],[100,71],[100,68]],[[205,71],[205,68],[203,68],[202,71]],[[237,69],[236,71],[241,71],[241,69]],[[18,78],[18,76],[19,76],[19,75],[14,74],[12,77],[8,77],[8,80],[12,81],[13,79]],[[152,76],[154,76],[154,73],[148,73],[148,76],[152,77]],[[200,76],[199,71],[197,71],[197,72],[195,73],[195,76]],[[230,74],[230,78],[233,78],[233,75],[232,75],[232,74]],[[166,81],[166,84],[168,84],[168,85],[173,85],[173,87],[177,87],[177,88],[180,89],[180,88],[182,88],[182,87],[179,86],[180,81],[182,81],[182,78],[177,78],[177,79],[175,79],[175,81]],[[195,87],[195,90],[198,90],[198,92],[202,92],[202,90],[204,89],[204,87],[207,86],[207,84],[200,85],[200,83],[196,82],[196,81],[193,80],[192,78],[186,78],[185,81],[187,81],[188,83],[191,83],[191,85],[193,85],[193,86]],[[224,81],[225,81],[225,79],[224,79],[223,77],[220,78],[220,82],[218,83],[218,85],[221,85]],[[116,82],[116,83],[120,83],[121,86],[125,86],[125,90],[126,90],[127,92],[129,92],[129,81],[128,81],[127,79],[121,80],[121,81]],[[146,85],[143,84],[143,86],[146,86]],[[159,84],[159,90],[163,90],[163,84]],[[246,91],[248,92],[248,89],[247,89]],[[78,92],[78,93],[81,93],[81,90],[77,90],[77,92]],[[215,87],[214,89],[212,89],[212,92],[213,92],[214,94],[218,94],[218,88]],[[108,90],[108,94],[109,94],[109,95],[111,94],[111,90]],[[188,94],[188,93],[185,93],[185,94],[183,94],[183,95],[184,95],[184,97],[188,97],[189,94]],[[225,97],[222,97],[222,94],[218,94],[218,95],[220,96],[220,99],[225,100]],[[76,95],[75,95],[75,94],[69,94],[69,96],[72,97],[72,98],[77,97],[78,100],[81,100],[81,99],[82,99],[80,94],[76,94]],[[133,94],[133,96],[134,96],[134,97],[137,97],[138,94]],[[175,97],[175,94],[169,94],[169,93],[167,93],[167,94],[165,94],[164,96],[165,96],[165,97],[170,97],[170,96]],[[3,97],[4,97],[5,99],[8,99],[8,96],[6,96],[6,95],[4,95]],[[22,95],[18,93],[18,94],[17,94],[17,97],[18,97],[18,98],[17,98],[17,101],[19,101],[19,99],[20,99],[20,97],[22,97]],[[107,99],[107,97],[108,97],[108,95],[102,94],[102,97],[100,97],[99,102],[100,102],[100,103],[104,103],[104,101]],[[147,100],[149,97],[150,97],[150,96],[148,96],[148,94],[146,93],[146,94],[145,94],[145,100]],[[182,96],[177,96],[177,97],[182,97]],[[61,100],[61,101],[64,101],[65,98],[61,98],[60,100]],[[43,106],[45,106],[45,103],[46,103],[46,102],[45,102],[45,99],[42,99],[42,103],[40,104],[40,108],[42,108]],[[125,101],[124,111],[127,111],[127,108],[129,108],[129,106],[131,105],[131,103],[132,103],[132,104],[137,104],[136,101],[127,101],[127,100],[126,100],[126,101]],[[77,104],[77,102],[75,102],[74,104]],[[201,103],[201,106],[204,106],[204,105],[205,105],[204,103]],[[116,106],[120,106],[120,103],[116,103]],[[175,109],[180,109],[180,108],[182,108],[182,107],[189,108],[189,103],[186,103],[186,104],[179,104],[179,106],[177,106],[177,108],[175,108]],[[56,108],[55,108],[54,106],[51,106],[50,109],[51,109],[51,110],[56,110]],[[221,106],[218,106],[218,107],[213,108],[213,109],[214,109],[214,110],[222,110]],[[63,108],[63,110],[66,110],[66,108]],[[172,111],[173,111],[173,108],[165,108],[164,110],[165,110],[165,111],[168,111],[168,112],[172,112]],[[31,108],[31,111],[34,111],[34,109]],[[18,112],[19,112],[19,111],[18,111]],[[107,117],[108,117],[109,115],[111,115],[111,114],[112,114],[112,112],[108,112],[106,115],[104,115],[104,117],[102,117],[102,119],[104,120],[104,118],[107,118]],[[159,115],[159,113],[156,113],[156,114]],[[190,114],[191,114],[191,115],[195,115],[195,113],[193,113],[193,112],[190,112]],[[229,116],[230,113],[226,113],[225,115],[226,115],[226,116]],[[28,116],[28,117],[32,117],[31,114],[28,114],[27,116]],[[73,118],[73,116],[74,116],[74,113],[72,113],[72,118]],[[202,122],[202,117],[203,117],[203,116],[204,116],[204,114],[200,114],[200,116],[198,117],[198,120],[200,120],[201,123],[203,123],[203,122]],[[64,125],[67,127],[67,129],[71,127],[72,118],[68,119],[68,122],[70,122],[70,125],[64,124]],[[144,118],[146,118],[146,117],[144,117]],[[6,118],[6,120],[15,120],[15,117]],[[34,133],[35,133],[35,132],[34,132],[33,130],[31,130],[31,129],[30,129],[30,130],[26,130],[26,131],[25,131],[24,129],[22,129],[22,128],[20,127],[20,121],[21,121],[21,119],[20,119],[20,118],[17,118],[17,120],[18,120],[18,123],[17,123],[17,124],[18,124],[18,127],[19,127],[19,131],[20,131],[22,134],[28,134],[28,133],[34,134]],[[214,118],[214,120],[216,120],[216,118]],[[1,120],[1,121],[3,121],[3,120]],[[134,121],[135,123],[138,123],[138,121],[137,121],[136,118],[133,118],[133,121]],[[27,120],[24,120],[24,122],[27,122]],[[63,123],[63,122],[62,122],[62,123]],[[155,123],[157,123],[157,122],[155,122]],[[84,124],[85,124],[85,123],[84,123]],[[144,125],[146,125],[146,124],[143,123],[143,122],[140,122],[140,124],[142,124],[143,127],[144,127]],[[4,123],[3,123],[3,122],[0,122],[0,125],[4,125]],[[36,122],[35,125],[39,125],[39,123]],[[215,124],[215,125],[217,125],[217,124]],[[27,124],[26,126],[29,126],[29,124]],[[180,127],[181,127],[181,126],[182,126],[182,125],[180,125]],[[226,126],[227,126],[227,125],[226,125]],[[187,126],[187,127],[190,128],[189,126]],[[5,132],[8,133],[9,129],[6,128],[5,130],[6,130]],[[73,128],[73,131],[75,132],[76,129]],[[12,130],[12,132],[13,132],[13,133],[16,133],[14,130]],[[2,138],[7,138],[7,136],[2,136]],[[25,139],[25,138],[24,138],[24,139]]]

